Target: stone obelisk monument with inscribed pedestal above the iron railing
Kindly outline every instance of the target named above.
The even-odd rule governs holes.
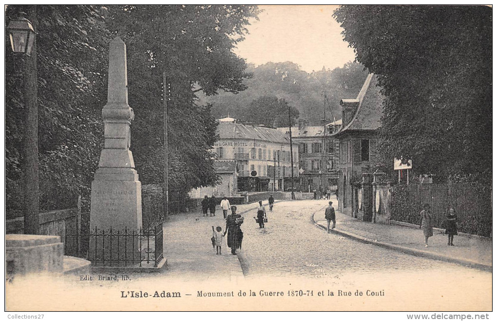
[[[90,229],[137,230],[142,227],[142,185],[130,146],[133,109],[128,105],[126,44],[109,45],[107,104],[102,109],[105,145],[91,183]]]

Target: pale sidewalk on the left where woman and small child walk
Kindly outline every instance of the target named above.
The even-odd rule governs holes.
[[[237,205],[238,214],[248,215],[244,224],[253,216],[244,215],[244,212],[255,210],[257,205],[257,203]],[[200,211],[170,215],[164,223],[164,257],[167,259],[168,276],[199,281],[229,279],[237,282],[239,279],[244,279],[238,255],[231,254],[230,248],[226,245],[226,237],[222,246],[222,255],[216,254],[211,243],[213,225],[214,228],[221,226],[223,231],[226,228],[226,220],[219,206],[216,209],[216,216],[212,217],[210,214],[204,217]]]

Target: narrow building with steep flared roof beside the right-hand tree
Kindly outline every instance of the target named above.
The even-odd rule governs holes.
[[[356,215],[363,210],[362,204],[370,205],[363,200],[361,182],[363,176],[368,180],[367,174],[376,162],[383,112],[383,96],[377,83],[376,76],[369,74],[357,98],[340,101],[343,126],[333,138],[339,141],[338,209],[345,214]]]

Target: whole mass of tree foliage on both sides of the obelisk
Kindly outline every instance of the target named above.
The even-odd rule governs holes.
[[[33,6],[8,5],[6,19]],[[163,182],[162,73],[171,83],[169,181],[171,198],[217,181],[211,106],[194,104],[195,90],[237,93],[250,77],[232,53],[256,6],[37,5],[38,111],[41,210],[73,207],[90,184],[103,141],[108,42],[120,35],[128,49],[130,106],[135,109],[131,149],[143,183]],[[35,22],[35,21],[32,21]],[[4,38],[9,48],[8,35]],[[6,205],[22,204],[22,55],[5,52]]]

